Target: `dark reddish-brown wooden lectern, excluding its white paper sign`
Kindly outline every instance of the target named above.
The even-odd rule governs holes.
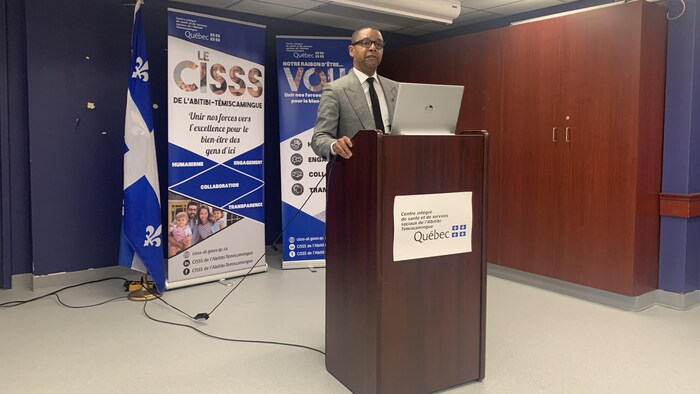
[[[355,393],[484,378],[485,132],[360,131],[327,168],[326,368]],[[473,192],[472,252],[393,259],[395,196]]]

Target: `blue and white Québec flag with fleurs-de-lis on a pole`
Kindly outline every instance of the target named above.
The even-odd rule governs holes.
[[[124,121],[124,206],[119,264],[150,274],[156,289],[162,293],[165,290],[163,229],[142,3],[142,0],[136,2],[131,33],[131,77]]]

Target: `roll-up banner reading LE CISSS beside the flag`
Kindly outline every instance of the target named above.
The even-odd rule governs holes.
[[[265,253],[264,56],[264,26],[168,10],[168,288]]]

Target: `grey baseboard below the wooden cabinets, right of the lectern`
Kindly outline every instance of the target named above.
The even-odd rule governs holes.
[[[654,290],[636,297],[624,296],[609,291],[548,278],[525,271],[488,264],[488,274],[514,282],[539,287],[587,301],[597,302],[628,311],[639,312],[654,305],[677,310],[688,310],[700,305],[700,290],[678,294],[664,290]]]

